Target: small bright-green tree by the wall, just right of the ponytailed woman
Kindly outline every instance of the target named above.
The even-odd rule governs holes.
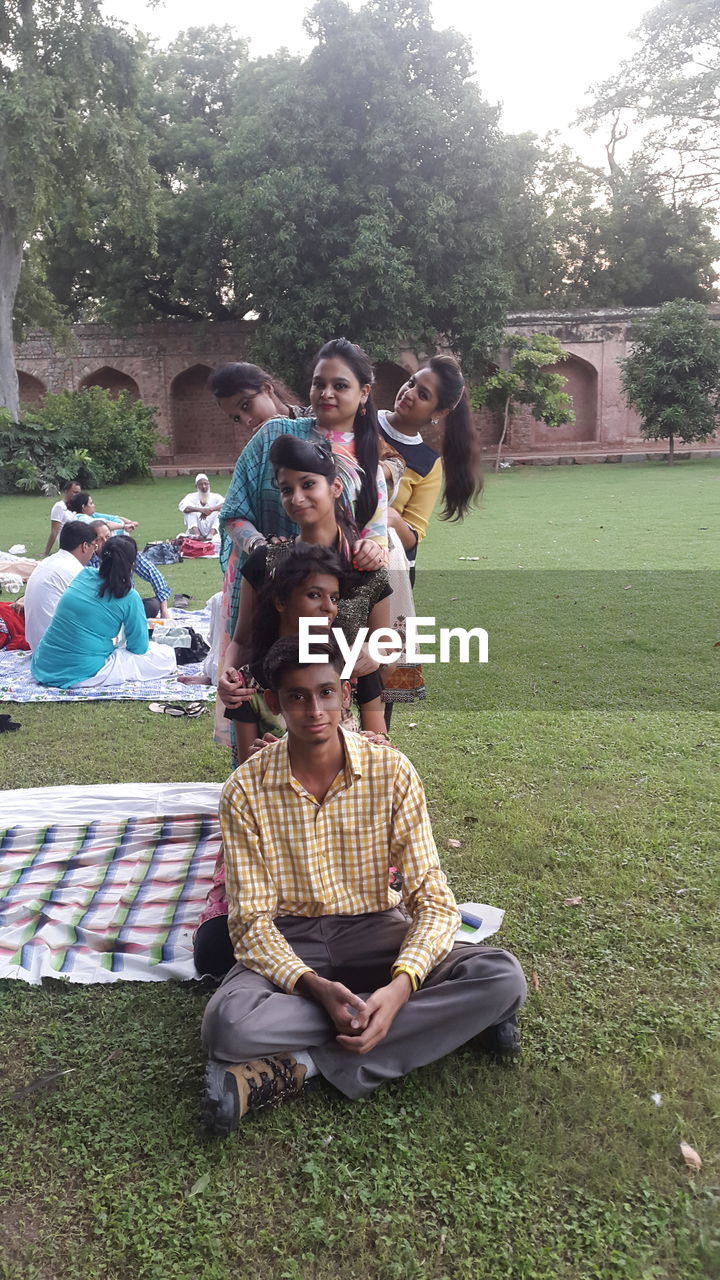
[[[568,352],[557,338],[544,333],[533,333],[529,338],[507,334],[503,351],[507,352],[507,367],[486,378],[474,396],[477,407],[484,406],[495,413],[502,413],[496,471],[500,468],[510,419],[519,404],[528,404],[533,417],[548,426],[575,421],[573,401],[565,390],[565,378],[547,367],[568,360]]]

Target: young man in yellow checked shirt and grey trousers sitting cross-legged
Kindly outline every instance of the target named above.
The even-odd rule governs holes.
[[[273,645],[265,698],[287,737],[236,769],[220,801],[237,964],[202,1021],[204,1120],[220,1135],[318,1073],[359,1098],[479,1033],[519,1048],[520,965],[455,942],[420,780],[400,751],[340,727],[350,687],[334,644],[325,654],[302,664],[297,636]]]

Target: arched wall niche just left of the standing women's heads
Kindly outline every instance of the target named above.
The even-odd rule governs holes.
[[[173,452],[200,461],[232,463],[249,433],[231,421],[208,389],[210,365],[192,365],[170,383]]]

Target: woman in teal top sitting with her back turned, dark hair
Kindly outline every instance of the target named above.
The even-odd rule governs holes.
[[[147,637],[145,608],[132,586],[136,556],[135,540],[119,534],[105,544],[100,568],[82,570],[64,591],[32,655],[38,684],[101,687],[174,675],[174,650]]]

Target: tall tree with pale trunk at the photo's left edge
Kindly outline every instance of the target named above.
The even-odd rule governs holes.
[[[0,406],[13,417],[20,268],[27,255],[47,293],[44,238],[55,210],[65,206],[82,234],[94,184],[101,184],[113,223],[131,239],[151,237],[152,183],[136,114],[138,59],[133,41],[102,22],[97,0],[0,6]]]

